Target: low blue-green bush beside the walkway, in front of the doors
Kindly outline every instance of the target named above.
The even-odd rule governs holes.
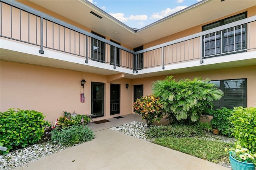
[[[52,140],[60,145],[74,145],[94,139],[93,131],[87,125],[72,125],[51,133]]]

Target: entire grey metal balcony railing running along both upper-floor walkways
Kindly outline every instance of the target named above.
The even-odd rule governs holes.
[[[40,48],[69,53],[88,60],[131,69],[203,60],[230,53],[256,50],[256,16],[187,37],[131,51],[112,41],[48,16],[14,0],[0,2],[0,36]],[[252,38],[253,37],[253,38]]]

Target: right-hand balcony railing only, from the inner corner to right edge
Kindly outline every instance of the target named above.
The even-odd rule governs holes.
[[[136,72],[142,68],[256,50],[256,16],[202,31],[135,52]]]

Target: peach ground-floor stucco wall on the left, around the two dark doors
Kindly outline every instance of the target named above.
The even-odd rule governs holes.
[[[91,82],[105,83],[105,117],[110,116],[110,83],[107,76],[1,61],[0,111],[9,108],[36,110],[44,113],[48,121],[55,121],[63,111],[78,114],[91,113]],[[80,103],[81,80],[84,85],[85,102]],[[130,114],[132,109],[131,81],[122,78],[111,83],[120,84],[120,115]],[[98,119],[103,119],[98,118]],[[95,119],[97,120],[97,119]]]

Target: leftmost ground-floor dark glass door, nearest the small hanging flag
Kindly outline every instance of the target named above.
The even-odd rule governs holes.
[[[91,113],[94,117],[104,116],[104,83],[92,82]]]

